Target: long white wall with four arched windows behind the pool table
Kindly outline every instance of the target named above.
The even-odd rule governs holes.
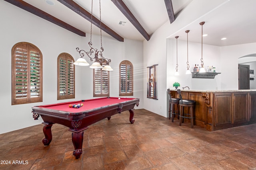
[[[6,17],[8,16],[8,17]],[[34,16],[12,4],[0,1],[0,47],[1,70],[0,80],[0,134],[32,125],[40,124],[42,119],[32,118],[32,106],[68,102],[92,98],[92,69],[76,66],[76,98],[57,100],[57,57],[66,52],[76,60],[76,47],[89,50],[87,37],[80,37],[58,25]],[[98,39],[98,40],[97,40]],[[93,35],[93,46],[100,47],[100,37]],[[112,37],[102,37],[104,57],[112,59],[110,72],[110,96],[118,96],[118,66],[122,60],[134,64],[134,98],[140,98],[139,107],[143,108],[143,42],[125,39],[119,42]],[[11,105],[11,49],[18,42],[29,42],[36,45],[43,55],[43,102]],[[89,60],[87,59],[89,62]]]

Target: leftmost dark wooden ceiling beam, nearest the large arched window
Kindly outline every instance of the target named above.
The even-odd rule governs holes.
[[[23,10],[26,10],[36,16],[39,16],[40,18],[43,18],[47,21],[50,21],[56,25],[59,25],[62,28],[67,29],[68,31],[71,31],[73,33],[76,33],[77,35],[85,37],[86,34],[83,31],[80,31],[79,29],[76,29],[75,27],[72,27],[71,25],[59,20],[58,18],[55,18],[54,16],[51,16],[50,14],[24,2],[23,0],[5,0],[6,2],[9,2],[10,4],[13,4]]]

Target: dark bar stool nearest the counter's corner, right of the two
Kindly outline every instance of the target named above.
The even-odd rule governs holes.
[[[196,106],[196,101],[194,100],[182,100],[182,96],[180,93],[180,89],[177,90],[177,92],[180,94],[180,101],[179,101],[179,105],[180,105],[180,126],[181,123],[184,122],[184,118],[187,119],[191,119],[190,123],[191,123],[191,128],[194,127],[195,123],[195,106]],[[188,107],[189,109],[189,113],[184,113],[184,107]],[[188,115],[188,116],[184,116],[184,115]]]

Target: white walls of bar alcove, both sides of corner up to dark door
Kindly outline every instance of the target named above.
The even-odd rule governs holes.
[[[188,43],[190,71],[192,71],[194,64],[200,65],[200,46],[200,43]],[[192,78],[192,75],[185,74],[187,60],[186,48],[186,41],[178,40],[178,68],[180,75],[174,76],[174,72],[176,71],[176,39],[168,40],[167,63],[168,65],[170,64],[170,67],[167,67],[167,88],[174,89],[172,84],[174,82],[180,82],[180,88],[189,86],[193,90],[238,90],[238,59],[256,53],[256,43],[224,47],[203,44],[204,65],[215,66],[216,72],[221,72],[214,79],[203,79]],[[254,81],[250,81],[250,84],[252,84],[251,89],[256,88]]]

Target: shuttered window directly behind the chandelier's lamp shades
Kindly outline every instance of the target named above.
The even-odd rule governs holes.
[[[105,66],[106,63],[102,63]],[[93,69],[93,97],[109,96],[109,71]]]

